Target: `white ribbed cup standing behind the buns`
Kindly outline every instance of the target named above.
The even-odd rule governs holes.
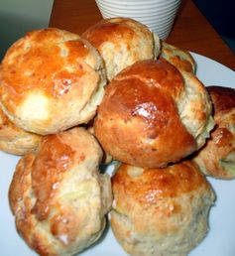
[[[104,19],[128,17],[166,40],[173,28],[180,0],[95,0]]]

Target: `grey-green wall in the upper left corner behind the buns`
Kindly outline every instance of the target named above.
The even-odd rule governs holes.
[[[53,0],[0,0],[0,61],[27,31],[48,27]]]

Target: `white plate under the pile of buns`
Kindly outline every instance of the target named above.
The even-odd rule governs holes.
[[[197,65],[197,76],[205,85],[223,85],[235,88],[235,72],[205,57],[192,54]],[[8,188],[19,158],[0,152],[0,255],[34,256],[15,229],[14,218],[8,204]],[[235,255],[235,181],[209,179],[217,194],[216,204],[209,216],[210,231],[189,256]],[[83,256],[125,256],[110,229]]]

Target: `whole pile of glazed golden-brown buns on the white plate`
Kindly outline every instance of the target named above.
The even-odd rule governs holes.
[[[205,175],[235,177],[235,91],[207,89],[195,71],[189,53],[128,18],[81,36],[32,31],[9,48],[0,149],[21,156],[9,201],[32,249],[77,254],[106,219],[130,255],[187,255],[204,238],[215,200]],[[99,165],[111,161],[110,177]]]

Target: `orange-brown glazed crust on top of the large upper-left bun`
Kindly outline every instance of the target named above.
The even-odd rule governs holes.
[[[84,43],[78,41],[79,37],[67,34],[70,36],[70,39],[73,39],[73,41],[64,42],[64,46],[69,51],[68,60],[74,62],[75,58],[77,58],[77,53],[79,53],[79,58],[87,56],[89,51],[84,47]],[[72,74],[64,68],[61,70],[61,67],[64,67],[64,63],[68,60],[59,58],[59,52],[61,51],[59,46],[52,44],[46,49],[42,48],[42,46],[46,47],[50,40],[59,41],[58,30],[46,29],[41,32],[29,32],[25,38],[15,43],[7,52],[2,64],[2,78],[4,83],[11,84],[11,88],[17,93],[16,101],[21,101],[26,90],[38,88],[38,82],[42,78],[44,78],[44,83],[41,86],[43,86],[45,93],[50,96],[59,97],[59,95],[66,93],[68,90],[70,85],[68,79],[70,82],[74,82],[76,77],[84,73],[82,68],[76,69]],[[28,41],[28,44],[25,41]],[[63,40],[60,39],[60,41],[62,43]],[[34,46],[34,44],[36,45]],[[25,48],[24,51],[22,48]],[[29,49],[28,51],[26,51],[27,48]],[[22,60],[18,59],[18,63],[13,63],[13,61],[16,61],[16,58],[22,58]],[[27,75],[23,70],[30,71],[29,68],[31,73]],[[35,71],[33,72],[33,70]],[[55,73],[55,70],[60,71]],[[55,87],[52,87],[53,79]],[[58,87],[56,81],[59,80],[64,81],[59,83]]]

